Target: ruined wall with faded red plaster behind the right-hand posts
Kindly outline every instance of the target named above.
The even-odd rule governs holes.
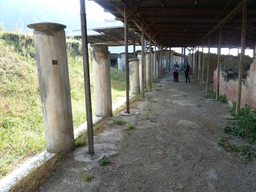
[[[256,59],[251,63],[250,70],[246,79],[242,82],[242,93],[241,93],[241,107],[245,104],[256,108]],[[226,95],[229,101],[236,101],[237,99],[237,88],[238,80],[229,80],[228,74],[221,70],[220,74],[220,94]],[[214,72],[214,90],[217,88],[217,74]]]

